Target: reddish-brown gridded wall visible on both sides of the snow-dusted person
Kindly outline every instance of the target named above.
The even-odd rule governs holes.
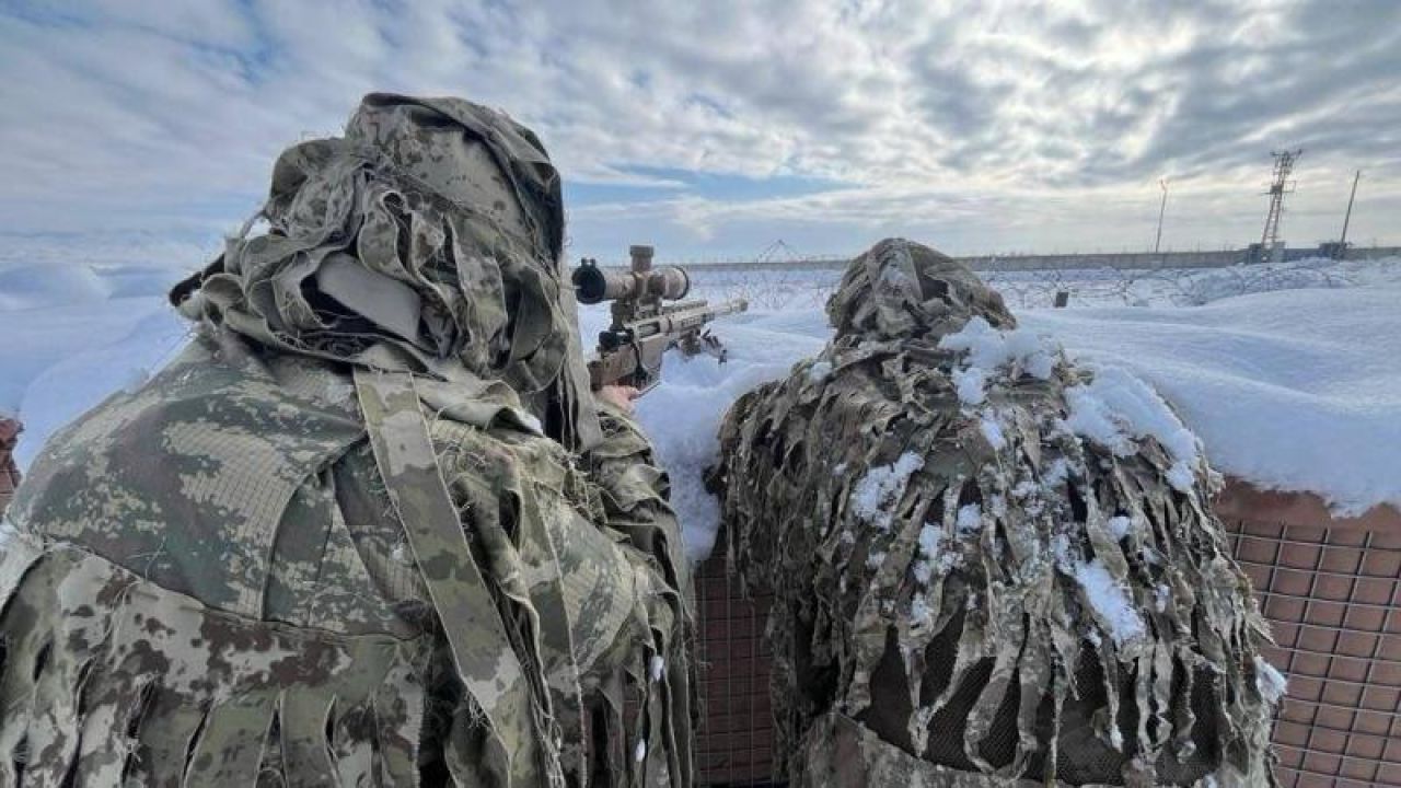
[[[1401,512],[1334,519],[1313,495],[1233,482],[1216,505],[1289,679],[1275,725],[1282,788],[1401,787]],[[720,550],[716,551],[722,552]],[[696,578],[702,785],[762,785],[773,763],[768,599],[744,600],[724,558]]]

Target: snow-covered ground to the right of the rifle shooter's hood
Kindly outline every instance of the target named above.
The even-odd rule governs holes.
[[[726,408],[817,353],[841,272],[695,271],[702,297],[758,308],[715,327],[730,360],[668,358],[639,407],[672,475],[693,557],[717,505],[702,487]],[[1321,495],[1338,515],[1401,508],[1401,258],[1208,271],[1003,272],[985,278],[1021,327],[1079,360],[1153,384],[1217,471]],[[1069,308],[1049,308],[1056,292]],[[586,342],[607,311],[581,315]]]

